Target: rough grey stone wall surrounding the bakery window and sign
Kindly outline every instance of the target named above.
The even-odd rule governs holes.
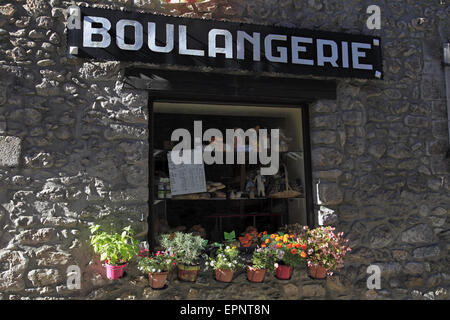
[[[81,4],[81,2],[76,2]],[[69,58],[70,1],[0,4],[0,298],[448,298],[450,164],[442,43],[450,6],[439,1],[216,0],[192,8],[153,0],[85,4],[185,17],[379,35],[384,80],[338,79],[336,101],[310,106],[318,217],[350,238],[346,266],[326,281],[301,270],[257,287],[239,275],[171,281],[154,292],[128,268],[105,280],[89,223],[132,224],[148,212],[146,92],[124,88],[129,64]],[[382,8],[382,29],[366,8]],[[425,18],[423,23],[418,18]],[[78,265],[82,289],[68,290]],[[367,290],[367,266],[382,289]],[[261,288],[261,291],[255,290]],[[247,292],[247,295],[245,293]]]

